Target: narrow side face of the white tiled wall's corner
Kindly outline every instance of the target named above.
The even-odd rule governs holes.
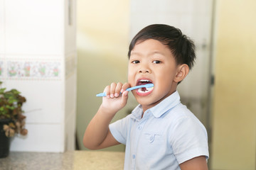
[[[76,0],[64,1],[65,28],[65,150],[75,149],[76,101],[77,101],[77,44],[76,44]]]

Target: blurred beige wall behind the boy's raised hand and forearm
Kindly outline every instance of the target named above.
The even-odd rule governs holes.
[[[112,81],[127,81],[129,1],[78,0],[78,139],[82,147],[85,128],[102,98],[95,95]],[[127,114],[126,109],[114,118]],[[110,148],[122,150],[124,146]]]

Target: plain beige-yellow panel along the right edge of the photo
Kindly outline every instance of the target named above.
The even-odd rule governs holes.
[[[211,167],[255,170],[256,1],[217,1]]]

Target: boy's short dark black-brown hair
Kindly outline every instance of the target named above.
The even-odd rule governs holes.
[[[167,45],[174,55],[176,64],[187,64],[189,69],[193,67],[196,60],[193,40],[183,35],[180,29],[165,24],[153,24],[140,30],[129,45],[128,57],[137,43],[149,39],[159,40]]]

